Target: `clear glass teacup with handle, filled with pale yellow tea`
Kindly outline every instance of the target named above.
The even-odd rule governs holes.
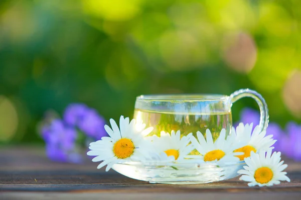
[[[254,90],[240,89],[230,96],[221,94],[159,94],[136,98],[134,118],[153,126],[152,134],[160,136],[162,130],[181,130],[181,136],[192,132],[205,133],[208,128],[215,140],[222,128],[226,136],[232,127],[232,104],[242,97],[254,98],[260,108],[260,129],[268,124],[268,109],[263,97]]]

